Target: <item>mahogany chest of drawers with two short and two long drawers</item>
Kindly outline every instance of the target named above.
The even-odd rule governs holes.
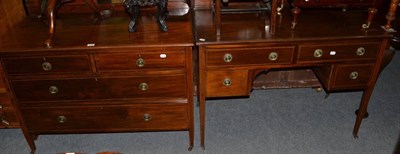
[[[88,18],[66,17],[61,22]],[[13,43],[19,42],[2,46],[7,85],[33,152],[38,135],[54,133],[188,131],[189,150],[193,147],[190,16],[171,17],[168,34],[159,32],[152,20],[143,23],[148,29],[129,33],[128,20],[116,16],[101,25],[74,28],[85,36],[91,29],[96,34],[89,37],[95,38],[94,47],[83,46],[86,42],[76,41],[76,36],[68,42],[70,32],[62,26],[57,33],[61,36],[55,37],[58,44],[51,49],[36,46],[36,39],[27,40],[28,47],[15,48]],[[39,26],[30,30],[44,32]],[[97,33],[109,30],[114,32]]]

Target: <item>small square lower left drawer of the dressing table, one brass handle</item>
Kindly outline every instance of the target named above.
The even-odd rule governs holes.
[[[206,97],[249,95],[249,71],[208,71],[206,74]]]

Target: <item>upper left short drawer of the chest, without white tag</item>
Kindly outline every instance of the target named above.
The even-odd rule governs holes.
[[[3,65],[7,74],[91,72],[87,55],[6,58]]]

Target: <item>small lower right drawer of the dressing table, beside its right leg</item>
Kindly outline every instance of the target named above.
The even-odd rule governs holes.
[[[335,68],[333,89],[364,88],[371,77],[373,66],[373,64],[338,65]]]

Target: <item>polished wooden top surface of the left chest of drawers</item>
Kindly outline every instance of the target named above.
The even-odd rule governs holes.
[[[125,12],[114,12],[105,18],[97,18],[93,13],[60,14],[56,19],[53,47],[49,49],[43,44],[48,34],[47,22],[26,17],[11,31],[0,34],[0,52],[194,45],[190,12],[169,16],[168,32],[159,29],[154,13],[142,13],[137,32],[133,33],[128,32],[130,19]],[[88,44],[94,46],[88,47]]]

